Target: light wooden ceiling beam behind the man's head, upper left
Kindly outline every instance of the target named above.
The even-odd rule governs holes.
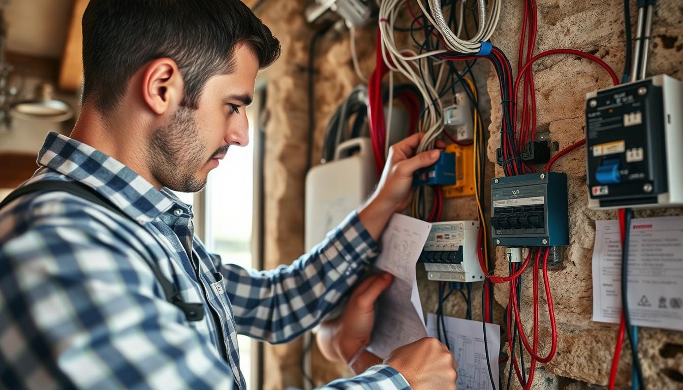
[[[59,89],[63,91],[77,91],[81,87],[81,80],[83,80],[83,27],[81,27],[81,20],[88,2],[89,0],[74,0],[59,72]]]

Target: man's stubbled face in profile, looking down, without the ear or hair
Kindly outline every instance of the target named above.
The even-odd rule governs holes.
[[[212,76],[197,109],[180,106],[150,137],[152,175],[173,191],[197,192],[230,145],[249,143],[246,106],[253,98],[258,59],[246,45],[234,51],[231,74]]]

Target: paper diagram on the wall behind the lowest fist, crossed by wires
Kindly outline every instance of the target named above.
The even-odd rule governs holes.
[[[454,317],[444,317],[444,322],[448,346],[458,361],[458,389],[493,390],[494,387],[491,384],[488,365],[486,364],[482,322]],[[443,329],[441,332],[441,341],[443,342],[445,341]],[[427,334],[430,337],[438,338],[436,315],[432,313],[427,315]],[[501,329],[497,324],[486,324],[486,344],[488,344],[491,375],[497,385],[498,352],[501,349]]]

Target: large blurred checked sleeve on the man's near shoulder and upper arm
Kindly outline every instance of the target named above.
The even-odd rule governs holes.
[[[229,366],[163,298],[143,258],[71,211],[0,247],[3,384],[232,389]]]

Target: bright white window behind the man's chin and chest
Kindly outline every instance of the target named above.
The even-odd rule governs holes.
[[[260,207],[260,180],[254,174],[259,169],[255,169],[255,163],[260,160],[254,151],[261,149],[257,131],[261,102],[257,89],[253,104],[247,107],[249,145],[229,148],[219,167],[209,174],[206,189],[196,195],[194,202],[195,226],[203,227],[203,231],[197,234],[208,250],[221,255],[223,262],[244,268],[260,268],[256,261],[258,255],[253,251],[256,242],[252,232],[254,227],[258,228],[254,223],[253,210]],[[249,337],[239,335],[238,345],[240,369],[247,388],[255,388],[252,362],[257,354],[257,344]]]

